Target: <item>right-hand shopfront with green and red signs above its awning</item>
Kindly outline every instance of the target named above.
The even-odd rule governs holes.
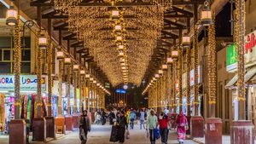
[[[246,118],[253,121],[254,126],[256,126],[256,31],[247,34],[245,43],[245,83],[247,86],[247,107],[246,107]],[[237,50],[236,43],[232,43],[227,47],[227,72],[237,71]],[[232,90],[232,111],[234,113],[234,120],[238,119],[238,101],[236,82],[238,76],[235,75],[228,84],[226,88]]]

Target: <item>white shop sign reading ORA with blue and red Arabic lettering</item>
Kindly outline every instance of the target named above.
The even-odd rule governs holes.
[[[37,75],[20,75],[20,92],[37,92]],[[15,76],[0,75],[0,91],[15,91]],[[45,91],[45,84],[42,84],[42,92]]]

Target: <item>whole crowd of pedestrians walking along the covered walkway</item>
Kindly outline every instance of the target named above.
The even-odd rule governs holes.
[[[125,141],[125,131],[128,131],[128,125],[130,129],[134,129],[134,121],[136,119],[140,122],[140,130],[146,129],[146,134],[149,137],[151,144],[154,144],[158,139],[158,134],[162,144],[167,144],[169,130],[172,128],[172,118],[168,115],[169,111],[165,110],[157,114],[153,109],[140,111],[134,111],[133,109],[111,110],[108,114],[104,111],[96,112],[96,124],[100,121],[106,124],[106,118],[109,118],[109,124],[118,125],[118,141],[123,143]],[[105,120],[104,120],[105,118]],[[170,120],[171,119],[171,120]],[[144,125],[147,121],[146,126]],[[188,130],[188,120],[183,112],[180,112],[175,118],[175,125],[177,126],[177,140],[179,143],[183,143],[186,137],[186,130]],[[158,129],[159,127],[159,129]],[[90,131],[90,118],[87,116],[87,111],[84,110],[80,118],[80,140],[82,144],[87,141],[87,133]]]

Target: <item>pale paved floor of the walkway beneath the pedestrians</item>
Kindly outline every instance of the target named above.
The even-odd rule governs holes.
[[[92,130],[88,135],[87,144],[111,144],[113,142],[109,142],[111,127],[109,125],[93,125]],[[145,130],[139,130],[138,125],[135,126],[134,130],[130,130],[131,138],[129,140],[125,140],[125,144],[148,144],[149,139],[146,139],[144,136]],[[8,144],[8,136],[0,135],[0,143]],[[44,142],[33,141],[32,144],[44,144]],[[63,135],[55,141],[47,142],[49,144],[80,144],[79,141],[79,132],[78,130],[73,132],[68,132],[67,135]],[[160,140],[156,142],[160,144]],[[177,144],[177,136],[172,131],[171,135],[169,135],[168,143]],[[187,140],[184,142],[185,144],[196,144],[194,141]]]

